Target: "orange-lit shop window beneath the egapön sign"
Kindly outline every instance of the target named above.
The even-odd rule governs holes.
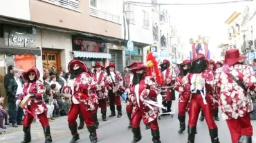
[[[23,69],[24,72],[28,71],[28,69],[30,69],[31,67],[35,66],[35,56],[34,55],[20,55],[17,54],[15,55],[14,58],[14,65],[15,67],[19,68],[19,69]],[[26,64],[24,64],[26,63]]]

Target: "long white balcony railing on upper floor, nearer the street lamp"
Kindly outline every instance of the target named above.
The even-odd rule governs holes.
[[[120,24],[120,16],[109,14],[107,12],[102,12],[100,10],[96,10],[95,8],[89,8],[89,10],[90,10],[90,15],[92,17],[98,17],[106,21],[111,21],[113,23]]]

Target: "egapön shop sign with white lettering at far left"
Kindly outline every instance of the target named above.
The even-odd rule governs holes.
[[[7,39],[7,37],[5,37]],[[35,47],[35,35],[19,32],[10,32],[10,47]]]

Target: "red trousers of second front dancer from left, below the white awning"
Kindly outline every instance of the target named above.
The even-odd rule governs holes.
[[[68,124],[74,124],[75,120],[77,119],[77,115],[79,113],[82,113],[82,116],[84,118],[84,122],[86,126],[93,126],[94,120],[93,120],[93,111],[86,111],[86,107],[84,104],[72,104],[71,109],[68,111]]]

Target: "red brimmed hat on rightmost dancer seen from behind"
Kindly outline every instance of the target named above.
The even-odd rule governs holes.
[[[247,57],[239,55],[238,49],[230,49],[226,51],[224,63],[230,66],[243,60],[244,58],[247,58]]]

